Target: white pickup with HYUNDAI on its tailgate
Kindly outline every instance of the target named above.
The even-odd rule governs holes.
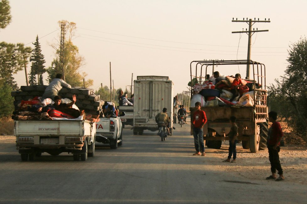
[[[88,120],[15,120],[14,135],[21,160],[33,161],[47,152],[73,154],[73,160],[86,161],[95,153],[96,125]]]

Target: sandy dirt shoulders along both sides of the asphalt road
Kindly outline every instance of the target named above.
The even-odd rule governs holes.
[[[0,154],[3,149],[15,146],[14,136],[0,136]],[[244,177],[251,180],[264,180],[270,175],[270,162],[267,150],[250,153],[249,150],[237,144],[236,163],[223,162],[228,156],[228,141],[223,142],[221,149],[206,148],[207,156],[204,162],[213,166],[214,171],[228,172],[233,176]],[[16,154],[18,154],[16,150]],[[307,185],[307,146],[286,145],[281,147],[280,161],[283,167],[285,181]]]

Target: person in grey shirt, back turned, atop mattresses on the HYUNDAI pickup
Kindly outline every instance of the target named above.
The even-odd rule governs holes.
[[[67,84],[63,80],[62,74],[57,74],[56,78],[52,79],[50,84],[45,89],[42,99],[51,98],[54,101],[54,97],[57,96],[62,89],[62,87],[72,88],[71,85]]]

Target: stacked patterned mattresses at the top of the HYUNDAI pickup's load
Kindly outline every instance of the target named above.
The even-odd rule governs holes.
[[[45,85],[33,85],[33,86],[21,86],[20,90],[12,91],[11,95],[14,97],[15,110],[18,110],[18,104],[22,100],[33,99],[35,96],[42,96],[47,86]],[[94,89],[75,87],[75,88],[62,88],[59,95],[62,98],[72,99],[73,95],[76,95],[76,105],[80,110],[84,110],[85,113],[99,115],[104,100],[100,99],[100,95],[94,93]]]

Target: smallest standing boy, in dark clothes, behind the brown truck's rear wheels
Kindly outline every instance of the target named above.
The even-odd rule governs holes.
[[[235,124],[235,120],[236,117],[231,116],[230,117],[230,124],[231,124],[231,128],[230,128],[230,132],[228,134],[229,137],[229,153],[228,153],[228,158],[226,160],[224,160],[224,162],[231,162],[231,163],[235,163],[235,159],[237,157],[237,150],[236,150],[236,143],[237,143],[237,135],[238,135],[238,126]],[[233,156],[233,160],[230,161],[231,156]]]

